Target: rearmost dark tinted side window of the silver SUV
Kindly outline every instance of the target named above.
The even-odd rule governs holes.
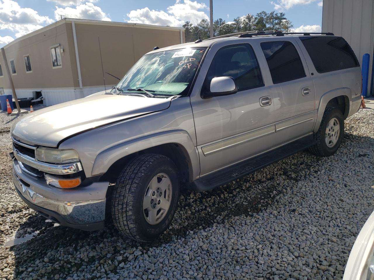
[[[341,37],[300,37],[318,73],[359,66],[355,53]]]

